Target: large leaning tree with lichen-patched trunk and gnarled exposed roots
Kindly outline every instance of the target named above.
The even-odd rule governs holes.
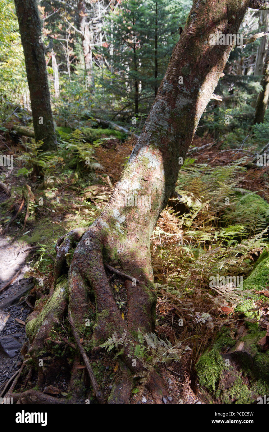
[[[136,359],[134,347],[138,329],[147,333],[155,327],[157,297],[150,237],[174,191],[180,162],[186,156],[199,118],[232,48],[231,45],[209,44],[210,35],[217,31],[237,33],[248,3],[249,0],[194,1],[155,102],[110,202],[84,234],[82,229],[73,230],[57,242],[55,284],[63,264],[69,260],[69,251],[78,244],[71,264],[68,263],[68,293],[64,295],[65,288],[59,283],[53,294],[59,307],[51,301],[51,308],[46,306],[46,311],[42,312],[43,319],[36,318],[35,312],[28,318],[26,327],[34,359],[38,358],[51,331],[53,318],[57,322],[66,313],[67,297],[72,328],[82,332],[85,318],[92,314],[88,295],[91,298],[94,295],[96,318],[91,346],[94,350],[100,349],[100,342],[116,333],[121,337],[118,346],[125,365],[132,374],[145,376],[146,365]],[[151,206],[145,205],[150,199]],[[124,321],[113,297],[105,264],[133,276],[133,281],[126,279],[125,282],[128,313]],[[46,325],[37,332],[42,322]],[[85,340],[87,337],[89,333],[84,336]],[[81,352],[81,347],[79,349]],[[111,403],[127,402],[132,384],[128,374],[124,380],[124,385],[114,387]],[[160,402],[167,394],[165,384],[154,370],[150,371],[146,385],[155,402]]]

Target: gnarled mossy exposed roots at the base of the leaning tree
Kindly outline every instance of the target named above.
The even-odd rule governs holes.
[[[29,354],[34,359],[38,370],[37,384],[42,388],[44,381],[47,380],[47,368],[46,366],[43,367],[42,362],[40,364],[42,356],[46,355],[45,344],[48,340],[51,340],[51,331],[55,326],[59,326],[60,321],[66,317],[68,310],[73,336],[79,354],[86,365],[85,370],[87,370],[91,381],[93,395],[99,403],[104,403],[100,388],[101,383],[97,382],[89,357],[82,346],[85,317],[91,316],[91,301],[94,296],[95,310],[92,310],[92,313],[95,312],[96,314],[95,325],[92,329],[92,336],[86,335],[88,343],[92,346],[92,353],[95,353],[96,350],[99,351],[100,343],[107,340],[114,333],[119,338],[122,338],[118,346],[120,350],[120,368],[118,372],[120,373],[117,374],[117,381],[114,383],[108,403],[129,403],[133,388],[133,377],[141,378],[151,392],[155,403],[161,403],[162,397],[167,395],[165,383],[154,369],[134,355],[135,347],[138,344],[136,340],[137,330],[148,332],[154,329],[156,295],[152,280],[145,271],[135,269],[133,265],[128,266],[128,263],[126,265],[118,263],[124,270],[127,269],[129,274],[134,274],[134,277],[129,276],[125,281],[128,314],[126,319],[123,320],[104,268],[103,257],[108,248],[105,247],[106,243],[101,235],[101,230],[97,224],[94,224],[84,235],[82,235],[83,231],[81,229],[73,230],[57,241],[55,290],[47,300],[43,310],[40,312],[40,306],[39,308],[37,306],[26,321],[26,333],[31,343]],[[73,248],[76,249],[70,263],[69,257]],[[108,259],[109,257],[106,254],[106,260]],[[66,280],[57,281],[64,271],[65,265],[69,266],[69,264],[68,284]],[[111,271],[117,273],[113,267],[111,267]],[[126,275],[121,271],[118,271],[118,273],[123,277]],[[137,282],[138,276],[139,284],[136,286],[132,281],[135,279]],[[53,340],[53,342],[55,344],[65,343],[66,346],[75,347],[68,339],[63,340],[63,337],[60,337],[60,340]],[[79,363],[79,356],[77,356],[73,362],[68,388],[72,394],[71,400],[73,403],[81,403],[81,400],[83,400],[85,382],[87,381],[84,376],[85,370],[82,372],[81,369],[78,369],[77,365]],[[83,376],[84,384],[82,382]],[[64,403],[54,397],[33,391],[24,391],[19,396],[16,396],[16,400],[17,403]]]

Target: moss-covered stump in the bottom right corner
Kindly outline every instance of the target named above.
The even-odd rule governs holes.
[[[197,393],[207,403],[256,403],[269,393],[269,351],[259,351],[266,334],[247,321],[234,330],[223,327],[196,363]]]

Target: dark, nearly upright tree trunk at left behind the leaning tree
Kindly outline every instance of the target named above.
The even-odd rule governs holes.
[[[47,68],[41,36],[41,22],[35,0],[14,0],[25,57],[35,140],[43,141],[42,150],[57,148]]]

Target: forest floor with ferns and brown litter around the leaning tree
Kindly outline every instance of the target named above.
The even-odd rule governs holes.
[[[56,162],[54,160],[49,162],[49,169],[44,180],[38,184],[27,175],[23,175],[25,164],[20,156],[25,155],[24,148],[19,142],[5,140],[5,144],[12,150],[17,163],[11,172],[5,172],[7,175],[5,180],[2,178],[8,191],[0,192],[2,202],[0,206],[2,227],[0,290],[8,281],[11,281],[3,292],[0,291],[0,346],[1,340],[2,345],[5,343],[2,338],[7,336],[13,338],[11,342],[15,346],[9,347],[11,351],[12,348],[14,349],[10,357],[6,355],[7,353],[3,353],[4,349],[2,351],[0,349],[0,395],[4,388],[3,384],[22,365],[19,349],[26,340],[25,320],[27,315],[37,299],[42,302],[48,298],[53,282],[53,264],[56,256],[54,245],[57,239],[73,228],[88,226],[96,219],[108,202],[114,185],[120,180],[120,173],[135,142],[136,140],[132,137],[120,140],[117,137],[101,136],[101,141],[95,147],[93,156],[99,165],[93,174],[88,175],[87,173],[85,176],[83,172],[78,174],[70,164],[67,168],[66,160],[64,158],[61,160],[59,156]],[[241,191],[243,198],[244,192],[242,191],[247,191],[248,194],[252,191],[267,204],[269,202],[269,167],[251,166],[243,170],[238,168],[240,164],[244,166],[248,162],[244,149],[231,148],[227,151],[226,146],[223,151],[222,143],[214,142],[210,136],[206,139],[195,137],[193,146],[202,146],[207,143],[212,143],[212,146],[193,152],[191,158],[195,159],[200,175],[208,175],[209,179],[204,180],[202,184],[197,176],[196,183],[193,184],[192,162],[190,161],[187,169],[182,168],[181,178],[185,176],[184,179],[187,180],[184,180],[183,186],[178,182],[176,191],[181,198],[183,189],[188,190],[189,195],[184,196],[185,201],[180,200],[178,196],[169,201],[152,234],[152,266],[158,292],[156,334],[161,340],[168,340],[171,346],[176,346],[178,350],[177,358],[169,362],[160,362],[158,356],[155,357],[155,366],[168,383],[169,397],[165,403],[252,403],[251,398],[249,399],[250,394],[256,398],[264,387],[256,386],[256,384],[253,386],[250,376],[239,370],[238,365],[234,366],[234,370],[239,370],[237,378],[239,377],[241,384],[246,386],[246,391],[250,392],[245,400],[240,399],[236,389],[229,394],[228,399],[224,391],[220,392],[221,384],[223,384],[222,389],[232,388],[236,379],[235,375],[234,378],[231,374],[227,377],[225,371],[217,377],[218,386],[217,379],[213,384],[206,383],[206,379],[203,382],[205,373],[198,368],[200,375],[197,374],[196,364],[207,352],[206,350],[212,346],[216,335],[222,332],[224,327],[228,329],[228,342],[233,340],[235,345],[237,340],[241,340],[238,339],[239,335],[249,333],[247,329],[251,325],[256,325],[255,343],[266,334],[264,330],[266,327],[258,326],[261,317],[268,317],[269,298],[264,295],[266,285],[259,285],[259,289],[264,290],[261,294],[257,293],[257,288],[255,291],[252,286],[252,291],[247,292],[247,300],[244,298],[243,302],[237,301],[234,297],[225,297],[227,292],[222,295],[221,292],[210,289],[204,268],[209,266],[207,270],[212,275],[216,273],[216,268],[220,268],[220,270],[230,271],[230,273],[226,272],[227,274],[239,274],[244,278],[249,276],[255,268],[261,251],[266,248],[267,240],[264,239],[264,235],[261,235],[262,228],[254,232],[252,229],[243,232],[242,225],[247,226],[248,222],[243,221],[244,224],[240,222],[240,216],[238,220],[233,221],[231,212],[228,212],[227,216],[226,210],[224,211],[219,205],[218,194],[222,194],[222,198],[230,197],[231,200],[234,200],[234,191]],[[1,149],[4,150],[5,146],[2,147]],[[237,163],[238,161],[240,164]],[[233,166],[232,174],[231,166]],[[190,172],[188,172],[189,168]],[[215,195],[210,189],[206,189],[212,181],[212,176],[215,178],[219,176],[220,189],[216,189]],[[190,177],[192,183],[188,189]],[[199,212],[197,212],[198,197],[200,197]],[[212,208],[210,207],[211,201],[213,201]],[[180,206],[183,202],[184,210],[182,211]],[[236,201],[235,205],[237,205]],[[241,210],[238,214],[240,212]],[[185,219],[182,219],[182,213],[187,214],[186,217],[184,216]],[[218,224],[217,219],[221,219],[224,213],[228,222],[225,222],[226,225]],[[247,216],[245,219],[247,220]],[[237,227],[237,231],[231,237],[225,237],[224,230],[233,224]],[[238,226],[241,226],[241,230]],[[225,232],[225,235],[228,235],[227,233],[228,231]],[[245,243],[242,238],[245,239]],[[236,244],[233,244],[234,239],[237,241]],[[241,249],[238,248],[239,243],[244,244]],[[196,248],[199,250],[198,254]],[[219,262],[223,266],[219,267],[217,265]],[[269,271],[267,274],[269,275]],[[16,278],[13,280],[14,276]],[[111,282],[111,286],[124,318],[127,314],[127,305],[123,280],[116,277]],[[25,294],[27,287],[28,295]],[[4,303],[16,295],[14,302],[8,305]],[[183,324],[182,322],[180,324],[180,320]],[[64,326],[65,323],[63,323]],[[58,337],[60,337],[59,334],[56,335],[56,339]],[[229,346],[228,342],[223,344],[221,349],[222,353],[228,353],[229,356],[232,343]],[[25,346],[24,344],[24,351]],[[50,345],[48,345],[48,350],[49,348]],[[70,353],[67,351],[66,359],[70,361]],[[57,397],[66,397],[70,370],[63,366],[60,373],[57,372],[56,375],[53,373],[54,362],[61,362],[61,355],[61,349],[58,353],[54,351],[51,381],[45,385],[47,393]],[[262,361],[265,359],[266,362],[267,360],[269,362],[268,350],[263,349],[261,355],[263,356]],[[251,356],[253,358],[253,354]],[[231,358],[236,362],[233,356]],[[101,359],[102,355],[99,355],[97,358],[92,357],[91,361],[97,379],[102,381],[104,394],[108,396],[111,381],[117,377],[119,363],[117,359],[109,355],[102,362]],[[80,367],[83,368],[83,364]],[[231,383],[227,384],[227,380],[230,380]],[[34,372],[30,378],[22,374],[19,388],[33,388],[35,385]],[[44,388],[42,390],[44,391]],[[141,403],[141,401],[145,403],[145,400],[147,400],[146,403],[153,403],[145,388],[134,388],[131,403]]]

